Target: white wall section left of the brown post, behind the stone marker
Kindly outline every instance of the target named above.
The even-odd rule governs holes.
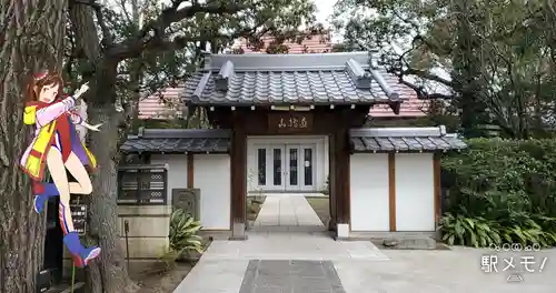
[[[187,189],[187,154],[152,154],[151,164],[168,164],[168,204],[172,189]]]

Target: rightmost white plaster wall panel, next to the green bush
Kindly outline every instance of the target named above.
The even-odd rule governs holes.
[[[435,231],[431,153],[396,154],[396,230]]]

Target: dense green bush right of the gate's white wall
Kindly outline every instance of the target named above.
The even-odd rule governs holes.
[[[556,245],[556,140],[467,143],[468,150],[443,159],[444,239]]]

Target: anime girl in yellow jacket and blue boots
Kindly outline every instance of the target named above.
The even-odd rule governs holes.
[[[60,196],[59,220],[63,230],[63,243],[73,255],[77,266],[83,267],[96,259],[100,247],[83,247],[73,229],[70,212],[70,194],[90,194],[91,180],[86,169],[95,169],[95,156],[81,143],[76,124],[99,131],[100,124],[90,125],[73,111],[76,100],[89,87],[86,84],[72,95],[63,94],[63,81],[57,73],[43,71],[34,74],[27,88],[23,122],[34,125],[34,138],[23,153],[20,164],[32,180],[33,209],[41,213],[48,199]],[[48,168],[53,183],[42,182]],[[69,182],[69,171],[77,182]]]

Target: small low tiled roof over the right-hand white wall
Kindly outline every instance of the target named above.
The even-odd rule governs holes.
[[[444,127],[353,129],[349,134],[355,152],[434,152],[467,148],[455,134],[447,134]]]

